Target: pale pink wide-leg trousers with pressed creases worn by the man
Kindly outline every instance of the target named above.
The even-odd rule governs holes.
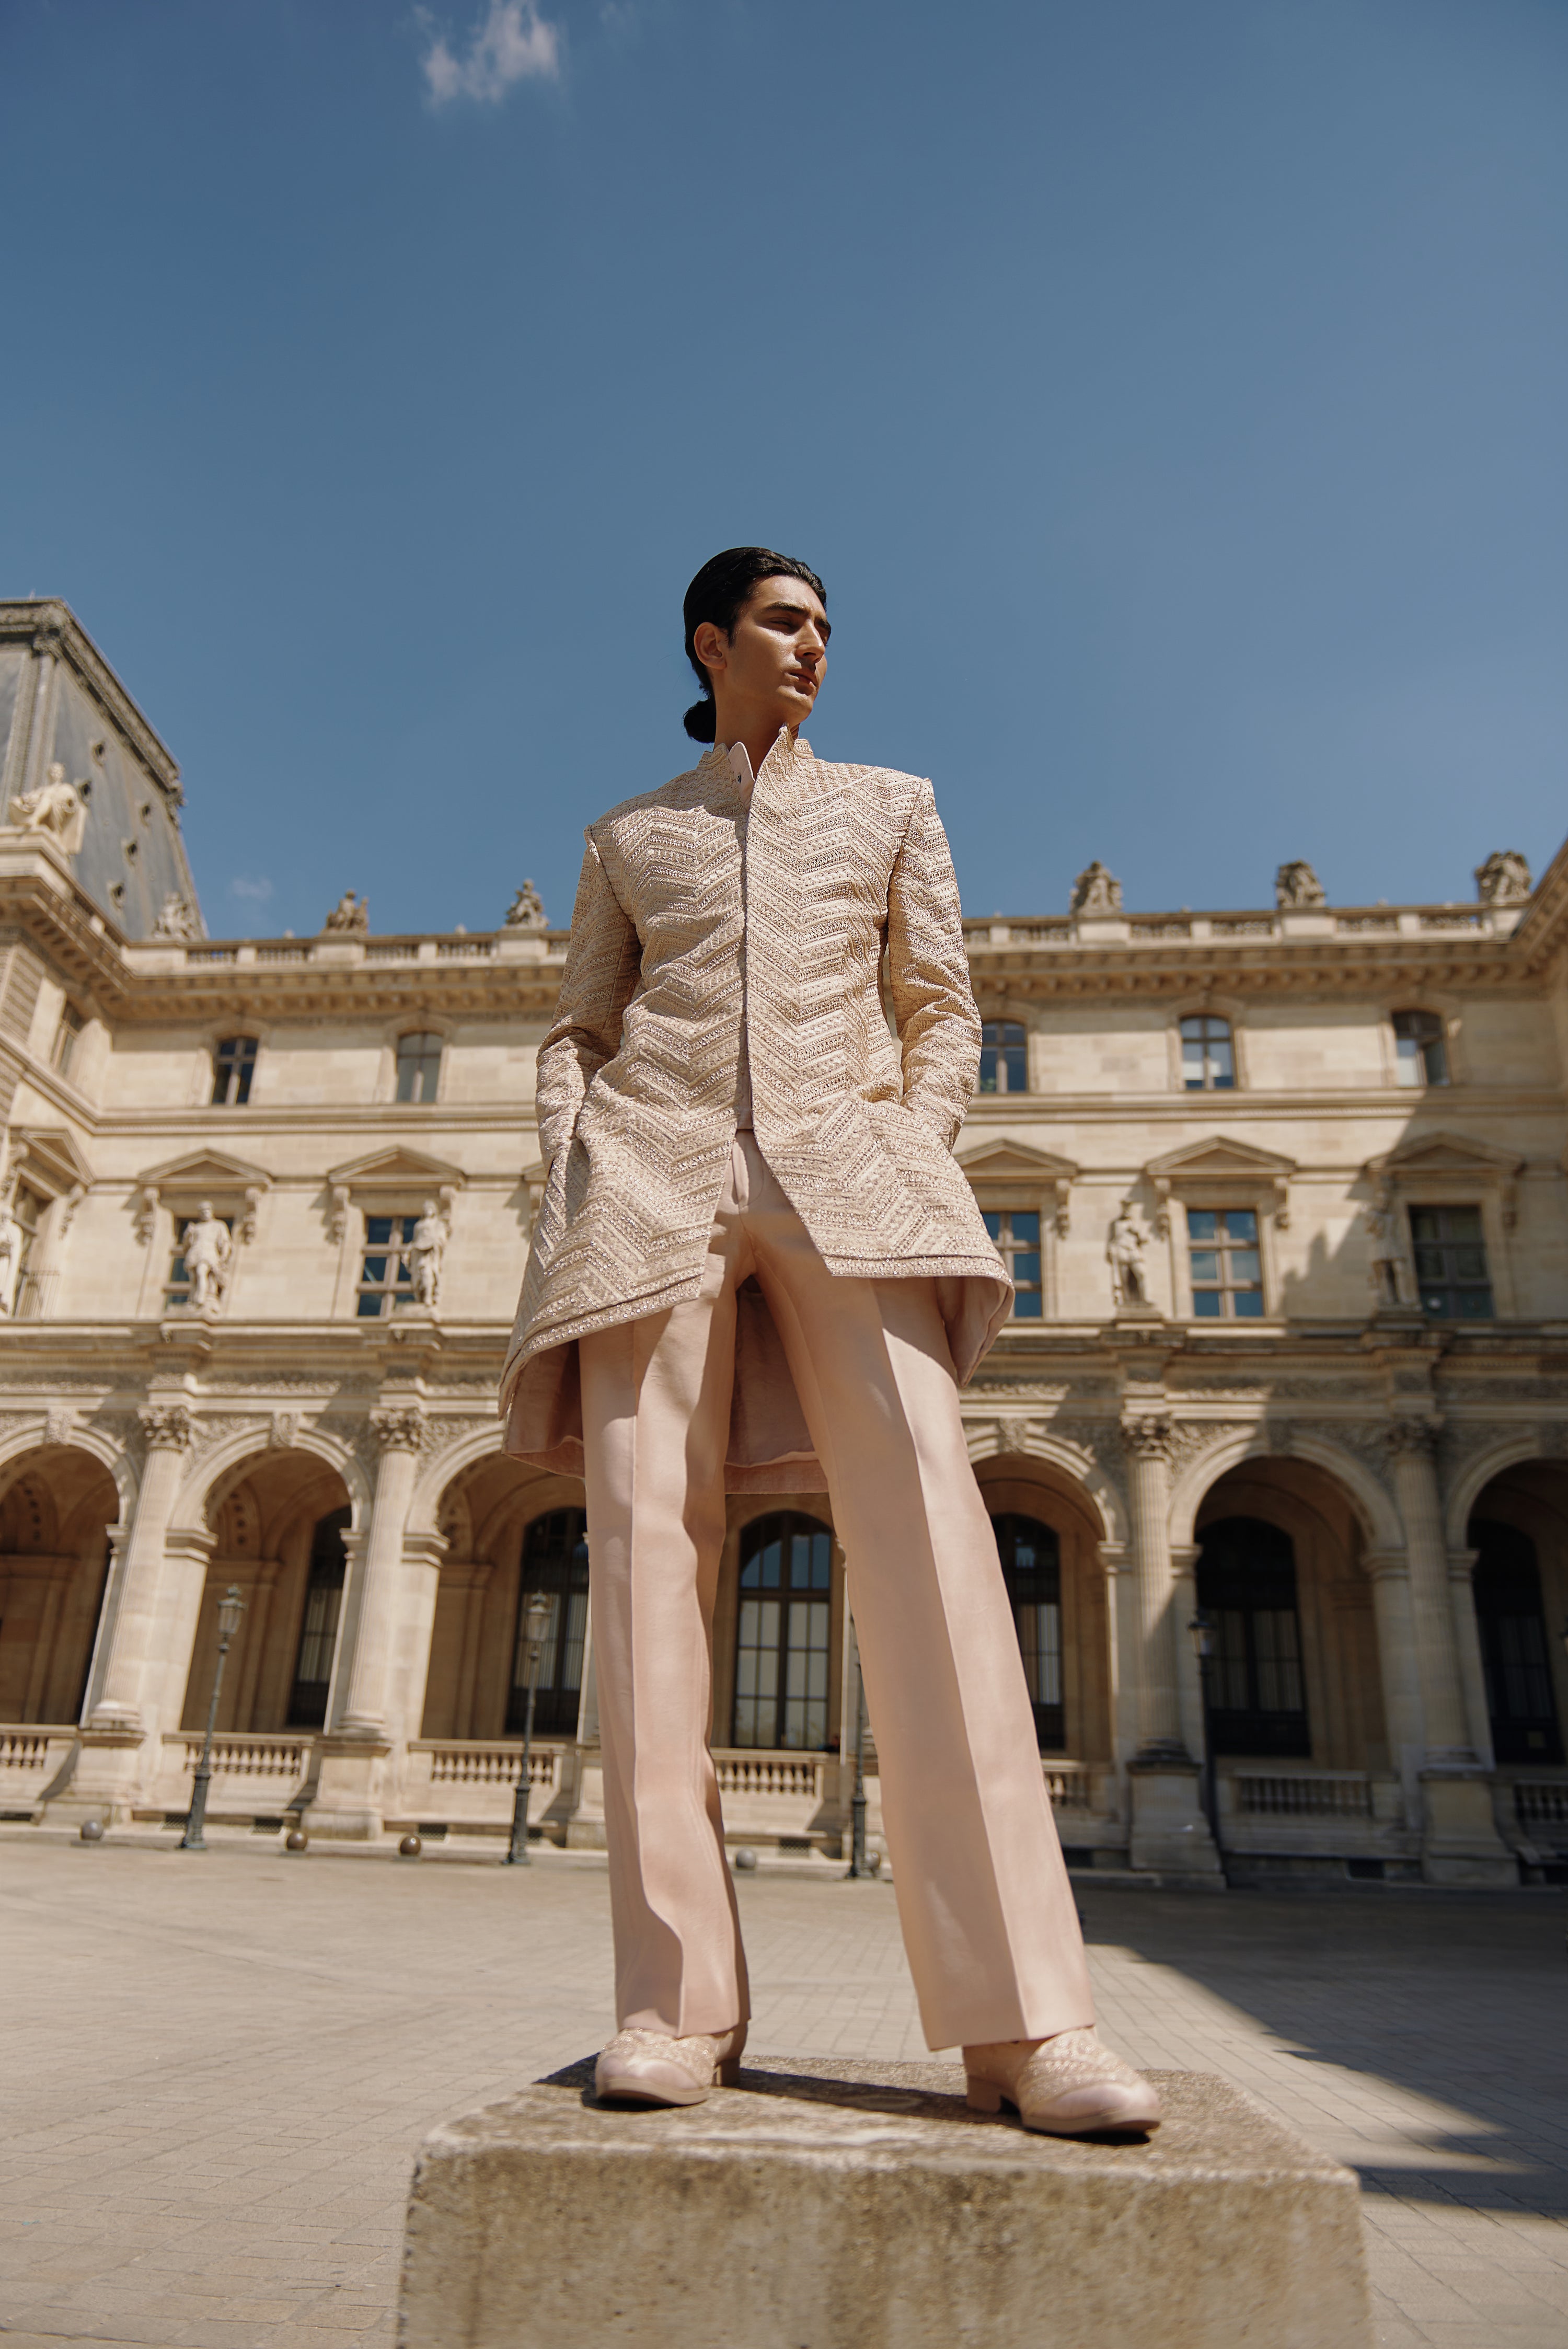
[[[941,2048],[1094,2022],[932,1283],[833,1278],[749,1132],[702,1294],[577,1341],[617,2020],[688,2034],[749,2015],[709,1712],[735,1292],[751,1273],[850,1562],[925,2037]]]

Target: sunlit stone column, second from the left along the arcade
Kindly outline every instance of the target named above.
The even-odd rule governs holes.
[[[357,1590],[345,1593],[345,1628],[350,1642],[343,1668],[343,1701],[333,1724],[319,1741],[319,1776],[310,1802],[310,1832],[352,1842],[376,1842],[383,1828],[387,1795],[392,1649],[401,1602],[404,1527],[418,1459],[425,1445],[425,1414],[413,1405],[371,1412],[380,1447],[376,1499],[364,1550],[357,1560]]]

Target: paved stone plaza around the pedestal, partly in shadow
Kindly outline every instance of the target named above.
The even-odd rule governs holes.
[[[739,1879],[758,2055],[918,2058],[883,1884]],[[1552,1893],[1082,1889],[1108,2039],[1354,2163],[1380,2349],[1568,2342]],[[420,2133],[589,2048],[601,1863],[0,1839],[7,2349],[380,2349]],[[526,2246],[521,2246],[526,2253]],[[744,2344],[737,2344],[744,2349]]]

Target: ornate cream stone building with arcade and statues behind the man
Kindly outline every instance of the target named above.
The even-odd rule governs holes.
[[[528,883],[204,937],[59,604],[0,606],[0,1809],[178,1820],[237,1586],[216,1832],[495,1849],[545,1590],[533,1820],[592,1846],[582,1492],[493,1416],[563,933]],[[1091,867],[967,926],[1019,1311],[965,1414],[1080,1865],[1568,1865],[1568,853],[1476,881],[1134,914]],[[826,1499],[732,1503],[737,1842],[838,1853],[854,1691]]]

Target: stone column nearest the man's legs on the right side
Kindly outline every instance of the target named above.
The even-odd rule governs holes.
[[[1171,1421],[1129,1419],[1131,1555],[1138,1647],[1138,1752],[1129,1764],[1134,1867],[1223,1882],[1199,1802],[1199,1773],[1181,1734],[1176,1672],[1176,1574],[1171,1564]]]

